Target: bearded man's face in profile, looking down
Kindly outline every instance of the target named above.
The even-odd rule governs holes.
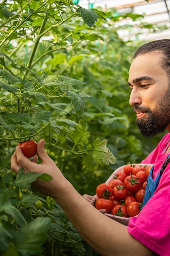
[[[129,70],[130,105],[137,113],[141,134],[152,137],[166,129],[170,132],[170,86],[161,67],[161,54],[139,55]]]

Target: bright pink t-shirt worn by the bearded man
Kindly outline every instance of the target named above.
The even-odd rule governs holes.
[[[166,134],[141,163],[154,164],[152,178],[155,180],[166,157],[164,148],[170,140]],[[170,141],[166,148],[170,146]],[[157,190],[137,217],[129,220],[128,232],[146,247],[161,256],[170,256],[170,164],[163,172]]]

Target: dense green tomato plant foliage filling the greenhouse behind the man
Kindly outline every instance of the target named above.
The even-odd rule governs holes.
[[[10,158],[19,141],[44,138],[77,191],[93,194],[117,167],[152,150],[162,135],[152,147],[142,141],[128,104],[139,42],[117,32],[121,19],[141,15],[72,0],[2,1],[0,15],[0,254],[95,256],[60,206],[31,189],[38,175],[21,169],[16,177]]]

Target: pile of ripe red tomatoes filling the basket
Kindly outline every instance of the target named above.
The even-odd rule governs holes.
[[[95,207],[121,217],[139,214],[150,169],[151,166],[126,164],[108,184],[97,186]]]

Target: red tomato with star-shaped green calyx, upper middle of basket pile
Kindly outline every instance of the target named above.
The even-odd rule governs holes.
[[[124,186],[130,192],[136,192],[141,188],[141,182],[138,182],[138,179],[135,175],[129,175],[124,179]]]

